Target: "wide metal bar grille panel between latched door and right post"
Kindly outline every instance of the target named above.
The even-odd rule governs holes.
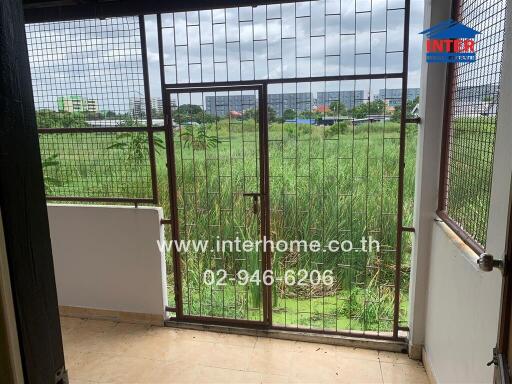
[[[314,119],[270,119],[272,236],[321,244],[337,239],[354,245],[348,252],[275,252],[276,276],[290,269],[297,274],[301,269],[332,270],[335,283],[276,283],[274,324],[356,334],[386,334],[393,329],[400,124],[383,105],[368,103],[367,95],[389,94],[397,86],[397,80],[269,85],[269,95],[280,95],[283,105],[286,95],[298,90],[326,103]],[[311,110],[312,102],[306,103],[306,110]],[[350,105],[356,108],[350,111]],[[297,102],[293,110],[304,107]],[[378,113],[382,114],[377,117],[373,111],[375,121],[367,118],[373,108],[381,108]],[[408,136],[413,142],[415,132]],[[408,163],[414,159],[414,148],[406,158]],[[407,168],[406,177],[411,177],[411,171]],[[405,203],[411,205],[412,190],[405,195]],[[363,238],[378,241],[380,249],[362,247]],[[401,268],[408,265],[404,257]],[[406,303],[407,274],[404,279],[400,293]],[[400,310],[401,316],[406,314],[404,308]]]

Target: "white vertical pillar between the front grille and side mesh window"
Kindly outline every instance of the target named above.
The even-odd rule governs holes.
[[[450,16],[451,1],[426,0],[423,24],[429,28]],[[414,236],[409,302],[410,356],[421,357],[425,340],[426,294],[431,253],[432,226],[436,218],[441,159],[446,65],[427,63],[423,43],[421,64],[421,124],[418,132]]]

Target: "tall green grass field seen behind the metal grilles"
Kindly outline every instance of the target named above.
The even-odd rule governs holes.
[[[176,131],[175,151],[182,239],[257,239],[260,215],[259,143],[254,121],[221,120],[200,132]],[[202,129],[202,128],[201,128]],[[179,134],[181,132],[181,135]],[[187,133],[188,132],[188,133]],[[86,136],[88,135],[88,136]],[[143,134],[42,135],[49,195],[150,197],[147,141]],[[412,220],[416,155],[414,126],[407,127],[404,223]],[[44,137],[43,137],[44,136]],[[334,284],[303,287],[276,283],[273,321],[289,327],[389,331],[392,326],[396,248],[399,126],[349,127],[272,124],[269,127],[271,236],[281,240],[351,240],[371,235],[381,252],[274,252],[276,276],[301,268],[332,269]],[[169,215],[163,136],[156,135],[161,205]],[[167,234],[170,233],[166,228]],[[407,318],[410,241],[404,239],[400,318]],[[229,276],[260,266],[257,252],[182,254],[184,312],[261,319],[260,287],[207,286],[206,269]],[[169,265],[171,264],[168,261]],[[170,305],[173,276],[169,272]]]

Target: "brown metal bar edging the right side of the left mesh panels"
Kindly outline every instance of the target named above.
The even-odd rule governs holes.
[[[146,102],[146,127],[148,129],[149,165],[151,167],[151,188],[153,203],[158,205],[158,180],[156,174],[155,145],[153,140],[153,118],[151,112],[151,94],[149,89],[148,55],[146,47],[146,25],[144,16],[139,16],[140,48],[142,51],[142,73],[144,76],[144,98]]]

